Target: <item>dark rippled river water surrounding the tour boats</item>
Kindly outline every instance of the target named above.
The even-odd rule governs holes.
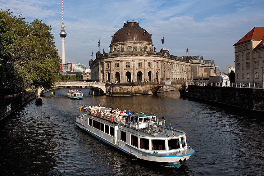
[[[180,98],[178,91],[133,97],[42,96],[1,121],[1,175],[264,175],[264,115]],[[75,125],[78,107],[129,108],[165,117],[196,151],[179,169],[136,159]]]

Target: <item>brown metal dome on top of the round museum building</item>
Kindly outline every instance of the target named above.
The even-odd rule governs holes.
[[[148,34],[145,29],[139,27],[138,22],[127,22],[124,23],[124,26],[121,29],[119,29],[114,35],[112,35],[111,44],[118,42],[135,41],[144,41],[152,43],[151,34]]]

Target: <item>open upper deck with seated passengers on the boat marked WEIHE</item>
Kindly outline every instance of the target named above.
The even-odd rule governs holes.
[[[148,137],[168,137],[173,138],[175,136],[182,136],[185,132],[172,129],[171,124],[166,126],[166,120],[164,118],[159,119],[154,114],[128,114],[125,116],[122,115],[113,115],[110,114],[111,108],[99,107],[97,110],[80,107],[79,110],[83,114],[89,114],[93,117],[98,117],[103,120],[112,122],[113,124],[120,125],[121,129],[126,131],[133,132],[140,136]],[[104,109],[106,112],[100,112],[101,109]]]

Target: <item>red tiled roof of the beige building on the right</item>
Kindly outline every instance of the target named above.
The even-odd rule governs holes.
[[[262,39],[262,38],[264,38],[264,27],[254,27],[251,31],[248,32],[248,34],[246,34],[234,45],[251,39]]]

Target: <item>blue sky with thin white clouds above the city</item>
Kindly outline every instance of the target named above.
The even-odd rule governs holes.
[[[111,35],[123,27],[123,21],[139,20],[139,26],[152,33],[156,50],[163,47],[175,56],[201,55],[212,59],[221,71],[234,66],[234,46],[255,26],[264,25],[264,0],[241,1],[85,1],[64,0],[63,16],[67,32],[66,62],[87,65],[92,51],[109,52]],[[0,0],[0,8],[26,21],[42,20],[51,25],[61,56],[61,0]],[[93,57],[95,59],[95,57]]]

